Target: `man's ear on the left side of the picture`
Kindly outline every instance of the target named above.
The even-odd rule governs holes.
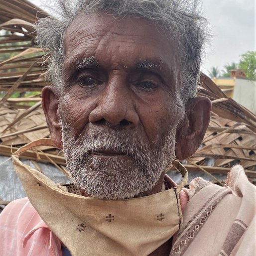
[[[52,86],[45,86],[42,90],[42,107],[51,139],[56,147],[63,149],[60,116],[59,116],[59,95]]]

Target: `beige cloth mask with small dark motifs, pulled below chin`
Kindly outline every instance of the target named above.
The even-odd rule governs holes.
[[[146,256],[176,233],[182,224],[178,193],[187,170],[173,166],[181,183],[163,192],[127,200],[101,200],[65,191],[41,172],[19,161],[33,146],[54,146],[40,139],[19,148],[13,156],[17,175],[29,201],[73,256]]]

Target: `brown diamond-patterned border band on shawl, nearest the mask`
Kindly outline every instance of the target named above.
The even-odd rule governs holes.
[[[186,251],[217,204],[228,193],[230,193],[230,190],[228,189],[225,189],[224,191],[221,189],[216,192],[189,220],[187,225],[180,229],[177,235],[177,240],[171,250],[170,256],[180,256]],[[182,233],[184,234],[181,236]]]

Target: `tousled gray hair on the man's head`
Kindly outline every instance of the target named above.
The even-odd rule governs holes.
[[[58,16],[40,19],[36,24],[37,42],[49,50],[48,76],[57,90],[62,88],[65,31],[80,13],[99,11],[124,17],[136,15],[158,22],[166,32],[178,36],[182,49],[181,98],[195,97],[200,78],[201,54],[209,38],[208,22],[198,0],[57,0]],[[49,56],[49,55],[48,55]]]

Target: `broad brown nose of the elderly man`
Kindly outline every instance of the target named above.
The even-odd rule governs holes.
[[[112,83],[106,86],[99,97],[97,107],[90,113],[89,122],[93,125],[132,128],[139,121],[132,97],[126,86]]]

